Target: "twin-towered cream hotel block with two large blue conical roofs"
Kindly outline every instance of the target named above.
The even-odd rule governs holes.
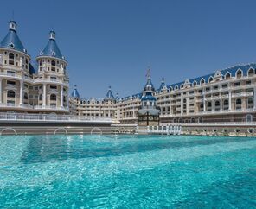
[[[9,113],[68,114],[67,60],[50,31],[33,61],[17,35],[15,21],[0,42],[0,108]]]

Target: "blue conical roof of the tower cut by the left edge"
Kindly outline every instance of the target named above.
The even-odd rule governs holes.
[[[27,53],[24,48],[22,41],[16,32],[16,22],[10,21],[10,28],[8,34],[3,38],[3,41],[0,43],[0,48],[12,48],[17,51]]]

